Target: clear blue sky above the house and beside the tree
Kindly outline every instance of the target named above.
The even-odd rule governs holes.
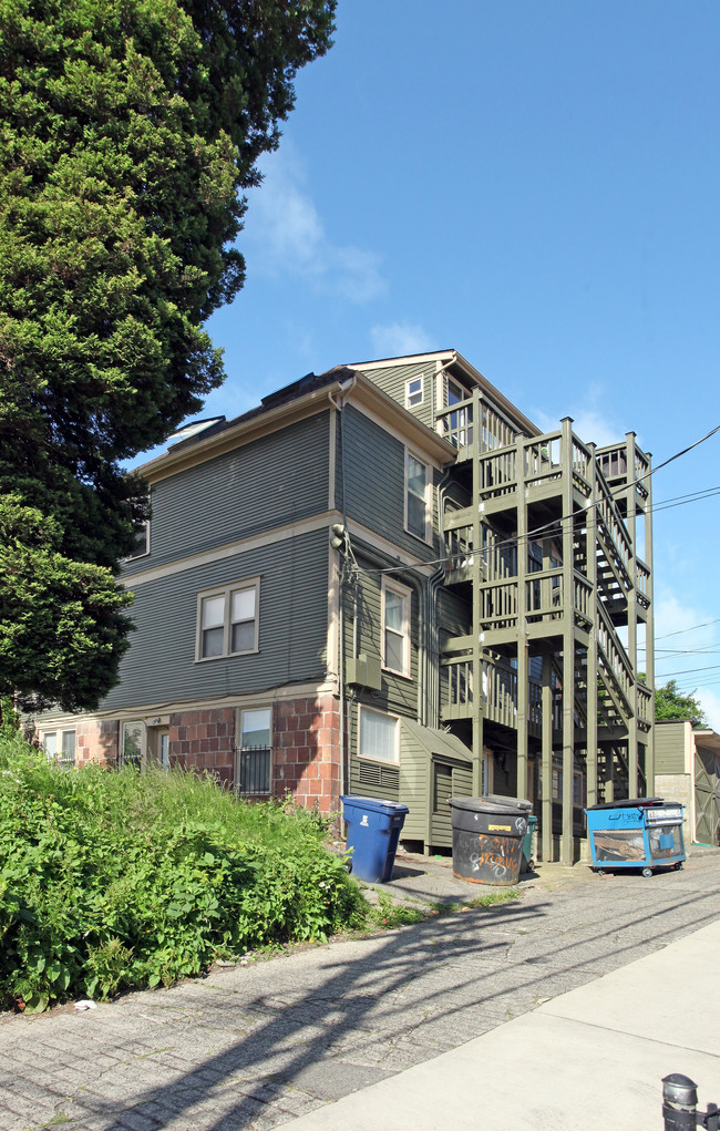
[[[207,414],[453,347],[540,426],[633,430],[654,463],[720,424],[719,34],[705,0],[340,0],[249,195]],[[719,468],[720,434],[656,504]],[[654,516],[658,682],[685,672],[718,729],[719,499]]]

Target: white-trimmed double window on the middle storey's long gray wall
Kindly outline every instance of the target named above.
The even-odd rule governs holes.
[[[260,578],[198,594],[196,663],[259,651]]]

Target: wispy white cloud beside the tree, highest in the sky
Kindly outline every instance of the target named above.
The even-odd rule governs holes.
[[[367,302],[384,290],[380,257],[333,243],[304,188],[301,161],[287,141],[260,162],[262,184],[249,192],[244,243],[253,270],[294,275],[316,291]]]

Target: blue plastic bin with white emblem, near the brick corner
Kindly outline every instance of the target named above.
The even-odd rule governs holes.
[[[340,801],[347,822],[347,847],[353,849],[353,875],[366,883],[387,883],[392,879],[394,854],[408,806],[354,794]]]

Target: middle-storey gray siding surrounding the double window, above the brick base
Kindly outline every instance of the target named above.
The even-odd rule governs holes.
[[[196,663],[198,593],[260,575],[260,650]],[[139,585],[137,631],[101,710],[261,692],[326,676],[328,533],[316,530]]]

